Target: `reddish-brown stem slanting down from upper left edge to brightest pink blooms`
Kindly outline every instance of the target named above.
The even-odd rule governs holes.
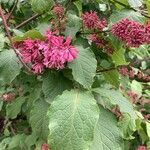
[[[9,28],[8,28],[8,25],[7,25],[7,21],[6,21],[6,18],[5,18],[5,16],[4,16],[4,14],[3,14],[3,9],[2,9],[2,7],[1,7],[1,5],[0,5],[0,15],[1,15],[1,18],[2,18],[3,25],[4,25],[5,31],[6,31],[6,33],[7,33],[9,42],[10,42],[10,44],[11,44],[11,47],[13,48],[13,50],[14,50],[16,56],[18,57],[19,61],[21,62],[21,64],[25,67],[25,69],[26,69],[29,73],[31,73],[31,72],[32,72],[31,69],[23,62],[23,60],[21,59],[20,55],[18,54],[17,50],[16,50],[15,47],[14,47],[13,41],[12,41],[12,39],[11,39],[11,34],[10,34],[10,31],[9,31]]]

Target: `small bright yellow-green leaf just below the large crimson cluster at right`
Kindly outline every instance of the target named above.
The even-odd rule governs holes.
[[[125,54],[124,49],[115,50],[112,55],[112,60],[115,63],[115,66],[120,65],[128,65],[128,63],[125,60]]]

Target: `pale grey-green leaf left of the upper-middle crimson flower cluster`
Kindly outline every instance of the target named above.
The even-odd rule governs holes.
[[[68,14],[68,23],[66,25],[65,36],[71,36],[74,38],[76,33],[80,30],[82,26],[82,20],[75,14]]]

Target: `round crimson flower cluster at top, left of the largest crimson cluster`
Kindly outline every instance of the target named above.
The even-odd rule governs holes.
[[[82,19],[88,29],[103,30],[107,26],[107,20],[105,18],[100,20],[95,11],[85,12]]]

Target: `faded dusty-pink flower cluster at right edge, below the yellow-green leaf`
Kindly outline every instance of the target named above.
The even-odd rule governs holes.
[[[143,80],[143,81],[147,81],[147,82],[150,81],[149,75],[146,75],[141,71],[136,73],[132,68],[128,69],[126,66],[119,68],[119,73],[123,76],[129,76],[129,78],[131,78],[131,79],[138,78],[139,80]]]

